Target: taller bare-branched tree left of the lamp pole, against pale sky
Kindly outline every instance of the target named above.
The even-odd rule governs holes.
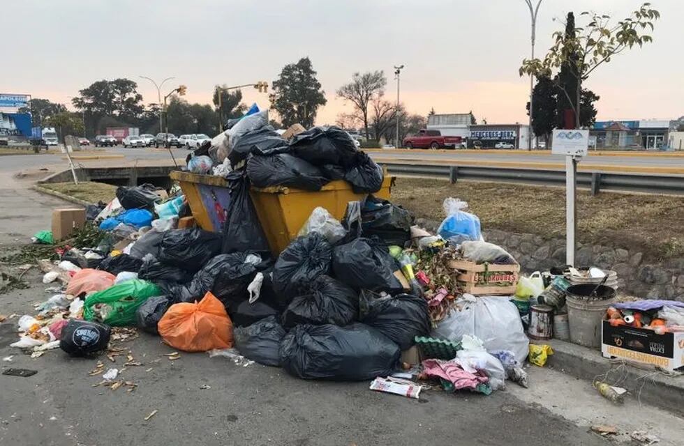
[[[387,77],[382,71],[369,71],[352,75],[352,82],[344,84],[337,90],[337,95],[350,102],[355,116],[364,125],[366,138],[369,137],[369,107],[373,100],[385,93]]]

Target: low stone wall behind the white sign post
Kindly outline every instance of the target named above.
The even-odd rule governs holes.
[[[416,223],[436,232],[438,222],[417,219]],[[484,239],[507,249],[520,263],[524,273],[549,270],[565,264],[565,239],[547,240],[528,233],[484,231]],[[662,263],[643,261],[644,254],[603,245],[578,243],[575,263],[597,266],[618,274],[619,292],[639,298],[671,299],[684,302],[684,259]]]

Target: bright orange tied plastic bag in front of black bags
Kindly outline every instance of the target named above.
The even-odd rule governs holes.
[[[225,308],[211,292],[200,302],[171,305],[157,324],[166,344],[183,351],[231,348],[232,322]]]

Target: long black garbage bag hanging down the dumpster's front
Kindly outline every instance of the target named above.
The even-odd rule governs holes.
[[[221,252],[268,253],[268,240],[249,196],[248,178],[242,172],[232,171],[225,179],[230,188],[230,205],[223,229]]]

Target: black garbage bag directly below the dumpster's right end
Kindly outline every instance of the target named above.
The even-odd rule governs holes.
[[[411,214],[401,206],[370,195],[361,210],[364,236],[378,236],[387,245],[403,245],[411,238]]]

